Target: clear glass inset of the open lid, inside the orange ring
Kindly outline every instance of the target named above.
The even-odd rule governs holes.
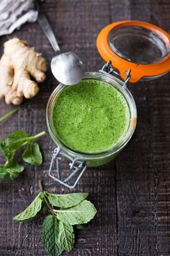
[[[119,39],[119,43],[117,45],[117,39]],[[141,50],[143,50],[143,54],[142,57],[145,56],[145,59],[139,59],[140,56],[129,56],[128,55],[128,48],[125,48],[124,51],[125,53],[122,51],[122,49],[120,49],[120,44],[121,42],[125,42],[130,40],[130,42],[128,42],[128,47],[130,48],[130,45],[132,46],[132,42],[133,42],[133,55],[136,51],[136,48],[134,49],[134,40],[135,38],[138,38],[138,43],[140,43],[140,47],[136,47],[138,49],[142,48],[141,45],[141,40],[145,40],[145,42],[143,42],[143,48]],[[140,42],[139,42],[140,40]],[[110,48],[112,49],[112,51],[115,52],[115,54],[117,54],[118,56],[120,56],[122,59],[128,60],[130,62],[133,62],[134,64],[155,64],[158,63],[160,61],[163,61],[166,56],[168,56],[169,52],[170,52],[170,40],[169,38],[159,32],[156,33],[156,31],[151,30],[151,28],[149,27],[140,27],[139,25],[130,25],[130,24],[122,24],[119,25],[117,27],[112,28],[112,30],[109,31],[109,35],[108,35],[108,43]],[[146,48],[146,52],[145,47],[146,44],[148,46],[148,44],[150,43],[150,48]],[[127,47],[127,46],[124,46]],[[154,47],[154,48],[153,48]],[[132,47],[131,47],[132,48]],[[141,51],[140,50],[140,51]],[[153,50],[153,56],[152,59],[149,59],[149,54],[148,51]],[[158,54],[156,54],[156,50],[159,51]],[[139,52],[138,52],[139,54]],[[157,56],[157,55],[161,55],[161,56]],[[137,59],[135,59],[135,57]]]

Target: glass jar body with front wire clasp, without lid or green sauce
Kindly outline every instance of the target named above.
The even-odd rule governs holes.
[[[126,88],[125,82],[118,79],[115,76],[112,76],[111,74],[107,74],[104,71],[101,72],[86,72],[84,76],[84,80],[100,80],[107,82],[109,85],[112,85],[114,88],[119,90],[119,92],[122,94],[122,96],[125,98],[125,100],[128,103],[129,111],[130,111],[130,123],[128,127],[128,131],[126,134],[120,139],[119,142],[117,142],[116,145],[114,145],[112,148],[109,148],[109,150],[106,150],[104,152],[100,153],[81,153],[79,151],[73,150],[71,148],[68,148],[66,145],[63,144],[63,142],[60,140],[60,137],[57,135],[54,127],[53,127],[53,106],[55,103],[56,98],[58,98],[58,95],[63,91],[67,85],[60,84],[57,88],[53,91],[53,93],[50,95],[50,99],[48,101],[48,107],[47,107],[47,124],[48,124],[48,131],[50,132],[50,136],[52,137],[53,141],[57,145],[57,149],[55,149],[53,153],[53,159],[52,163],[50,165],[50,176],[53,177],[53,179],[57,180],[61,184],[66,185],[67,187],[75,187],[77,182],[79,180],[76,180],[76,182],[71,186],[67,182],[69,179],[66,179],[65,182],[63,182],[61,179],[58,179],[58,177],[54,176],[52,174],[53,169],[53,162],[56,161],[57,163],[57,174],[59,173],[60,163],[59,158],[61,156],[65,156],[66,158],[70,159],[72,161],[72,172],[71,172],[71,178],[73,177],[73,170],[76,168],[79,168],[80,174],[81,171],[85,171],[86,167],[94,167],[94,166],[102,166],[105,163],[108,163],[109,161],[112,161],[118,153],[125,147],[125,145],[128,143],[130,138],[133,135],[133,132],[135,131],[136,121],[137,121],[137,111],[135,106],[135,101],[133,99],[133,96],[131,95],[128,88]],[[80,176],[78,176],[80,178]]]

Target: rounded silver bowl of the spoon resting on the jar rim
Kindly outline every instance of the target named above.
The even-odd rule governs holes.
[[[63,85],[75,85],[84,77],[84,64],[79,56],[71,51],[54,56],[51,70],[54,77]]]

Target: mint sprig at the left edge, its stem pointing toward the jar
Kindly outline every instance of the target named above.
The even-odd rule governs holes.
[[[27,132],[19,130],[12,132],[6,139],[0,141],[1,153],[6,158],[6,163],[0,167],[0,179],[4,179],[6,176],[9,176],[10,179],[16,179],[24,171],[24,166],[17,162],[15,155],[25,145],[27,145],[27,148],[24,150],[22,160],[33,166],[40,166],[42,164],[42,154],[39,145],[33,143],[35,139],[42,135],[45,135],[45,132],[40,132],[38,135],[30,137]]]

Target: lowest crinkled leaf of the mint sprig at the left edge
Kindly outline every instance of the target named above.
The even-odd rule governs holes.
[[[2,168],[7,173],[11,174],[10,177],[12,179],[17,178],[17,176],[19,176],[19,174],[22,171],[24,171],[24,166],[20,166],[15,158],[10,158],[8,161],[6,161],[6,163],[4,164],[4,166],[2,166]]]

